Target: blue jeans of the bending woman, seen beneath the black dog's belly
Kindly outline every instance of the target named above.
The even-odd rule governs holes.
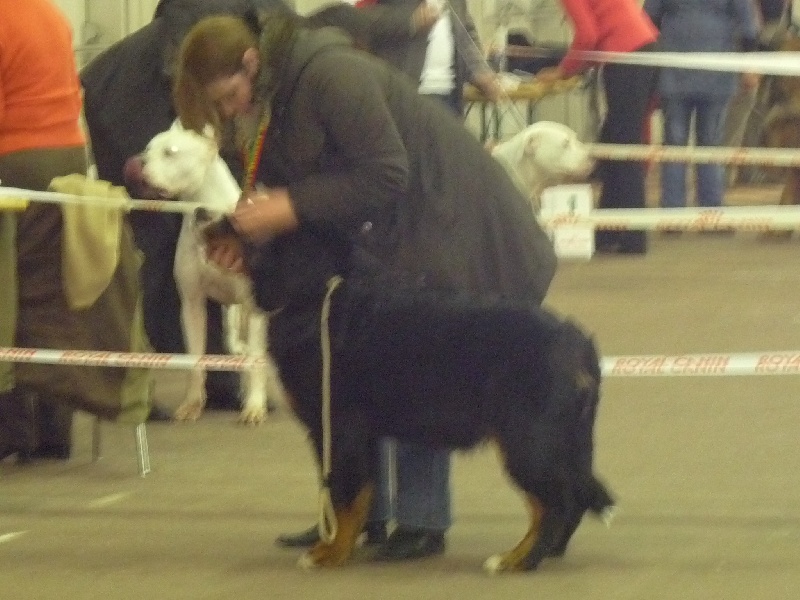
[[[375,483],[370,521],[437,531],[452,524],[449,449],[383,440]]]

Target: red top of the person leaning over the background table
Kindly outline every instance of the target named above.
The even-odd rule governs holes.
[[[638,0],[561,0],[572,21],[574,38],[561,61],[567,75],[583,69],[585,50],[633,52],[658,39],[658,29]]]

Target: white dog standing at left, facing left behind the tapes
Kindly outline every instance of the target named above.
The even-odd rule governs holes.
[[[196,202],[200,210],[186,213],[175,251],[175,282],[181,299],[181,324],[189,354],[206,351],[206,301],[228,307],[229,343],[234,351],[257,359],[255,366],[244,372],[240,420],[259,423],[264,420],[269,399],[281,400],[284,394],[277,368],[267,352],[267,316],[255,305],[252,282],[244,275],[226,271],[206,259],[203,225],[232,213],[241,196],[241,189],[228,166],[220,158],[213,131],[204,135],[184,129],[175,122],[170,129],[156,135],[145,150],[129,159],[128,179],[139,179],[165,198]],[[203,215],[210,218],[203,218]],[[236,316],[241,327],[232,324]],[[233,329],[234,331],[231,331]],[[193,370],[184,401],[175,412],[178,420],[195,420],[205,406],[204,369]]]

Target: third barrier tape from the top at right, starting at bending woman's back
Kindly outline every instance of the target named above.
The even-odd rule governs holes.
[[[598,208],[587,214],[542,214],[539,223],[555,228],[592,225],[595,229],[627,231],[765,232],[800,229],[800,206],[727,206],[725,208]]]

